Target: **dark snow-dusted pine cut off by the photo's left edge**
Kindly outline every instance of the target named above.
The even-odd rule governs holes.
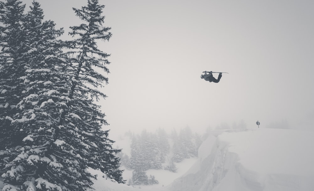
[[[9,120],[19,113],[16,105],[24,89],[24,80],[20,77],[25,71],[26,32],[23,25],[25,5],[21,3],[18,0],[0,2],[0,151],[7,146],[19,145],[12,135],[23,136]]]

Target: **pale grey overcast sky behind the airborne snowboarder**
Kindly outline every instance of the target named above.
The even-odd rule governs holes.
[[[80,23],[72,7],[87,0],[38,2],[45,19],[68,32]],[[257,120],[261,128],[282,120],[291,128],[311,125],[314,1],[100,3],[113,33],[99,45],[111,54],[103,89],[109,97],[100,103],[111,133],[187,125],[204,130],[241,119],[249,128],[257,128]],[[216,84],[200,79],[205,70],[229,74]]]

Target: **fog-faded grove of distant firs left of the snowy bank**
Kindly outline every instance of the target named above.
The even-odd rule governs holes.
[[[159,128],[151,133],[143,130],[140,134],[127,132],[131,140],[131,153],[120,152],[121,165],[131,169],[132,178],[127,182],[131,185],[158,184],[153,175],[147,175],[149,169],[164,169],[177,172],[175,163],[182,162],[190,157],[198,157],[198,148],[201,145],[201,136],[193,133],[190,127],[180,129],[179,133],[172,130],[167,133]]]

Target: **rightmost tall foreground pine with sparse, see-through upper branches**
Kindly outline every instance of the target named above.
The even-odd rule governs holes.
[[[71,121],[69,125],[78,130],[82,146],[85,147],[80,155],[86,159],[87,165],[124,183],[122,171],[119,170],[120,159],[115,155],[121,150],[112,148],[114,141],[108,138],[109,130],[102,130],[103,125],[108,125],[104,119],[105,114],[95,104],[100,98],[106,98],[97,88],[103,87],[104,82],[108,83],[108,78],[97,69],[109,73],[106,65],[110,63],[107,60],[110,55],[97,47],[97,40],[111,38],[111,28],[102,26],[105,19],[101,15],[104,7],[98,0],[88,0],[87,6],[73,8],[83,23],[70,27],[72,31],[69,34],[76,39],[68,41],[67,46],[69,50],[66,55],[72,64],[69,71],[72,78],[70,100],[67,103],[69,110],[64,111],[63,115],[64,121]],[[76,118],[74,121],[73,117]]]

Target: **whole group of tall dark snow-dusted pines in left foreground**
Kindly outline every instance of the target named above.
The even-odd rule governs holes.
[[[103,26],[104,5],[88,0],[73,8],[78,26],[72,40],[59,37],[34,1],[25,13],[18,0],[0,2],[0,172],[9,190],[92,188],[98,169],[124,183],[120,159],[112,148],[98,89],[108,82],[109,54],[97,41],[111,38]],[[102,71],[102,72],[100,72]]]

